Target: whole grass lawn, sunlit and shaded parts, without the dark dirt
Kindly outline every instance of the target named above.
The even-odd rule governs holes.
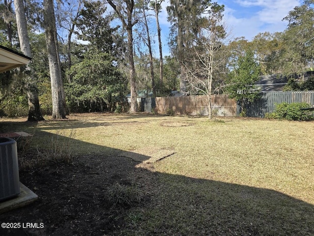
[[[129,173],[143,200],[112,235],[314,235],[314,122],[219,121],[75,114],[13,131],[34,133],[41,148],[58,133],[75,156],[169,153],[134,164],[145,170]]]

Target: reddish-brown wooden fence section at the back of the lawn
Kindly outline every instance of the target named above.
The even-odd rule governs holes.
[[[212,95],[211,106],[217,116],[236,115],[236,101],[228,95]],[[175,114],[208,116],[208,96],[156,97],[156,109],[162,114],[172,110]]]

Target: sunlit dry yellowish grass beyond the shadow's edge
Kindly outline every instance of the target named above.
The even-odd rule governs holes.
[[[80,153],[106,147],[173,149],[174,155],[155,164],[157,171],[273,189],[314,204],[314,122],[102,114],[69,118],[37,128],[56,133],[58,127],[71,127],[77,140],[97,145],[74,147]]]

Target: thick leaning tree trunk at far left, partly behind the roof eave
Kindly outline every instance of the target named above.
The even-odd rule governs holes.
[[[23,0],[14,0],[16,23],[20,39],[21,51],[31,58],[31,49],[27,32],[25,9]],[[34,78],[34,73],[30,66],[26,66],[26,71],[30,71],[30,77],[26,82],[28,96],[28,118],[27,121],[45,120],[42,117],[38,98],[38,89]]]

